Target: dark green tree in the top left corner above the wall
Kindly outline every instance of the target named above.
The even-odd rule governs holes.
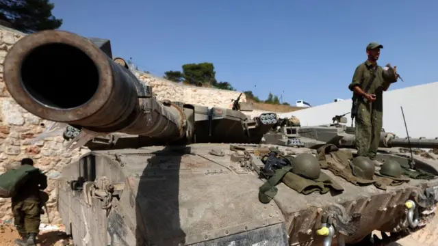
[[[24,33],[57,29],[62,19],[52,15],[54,7],[49,0],[0,0],[0,20]]]

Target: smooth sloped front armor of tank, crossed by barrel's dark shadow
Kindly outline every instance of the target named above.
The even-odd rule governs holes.
[[[215,146],[225,150],[224,145]],[[259,202],[263,181],[253,172],[230,163],[228,155],[209,154],[214,146],[178,149],[92,153],[96,154],[96,176],[120,182],[116,165],[106,163],[115,154],[118,169],[129,184],[108,216],[108,244],[112,245],[111,240],[133,243],[131,234],[138,238],[136,245],[287,245],[281,210]],[[64,176],[70,172],[63,170]],[[117,181],[111,180],[114,178]],[[64,192],[60,192],[60,200],[68,199]],[[77,209],[70,215],[80,215],[82,208]],[[66,218],[65,212],[62,217]],[[128,233],[130,228],[134,229]]]

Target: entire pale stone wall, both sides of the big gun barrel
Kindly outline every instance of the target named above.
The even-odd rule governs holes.
[[[36,167],[47,172],[50,194],[48,203],[49,216],[52,223],[60,223],[56,208],[55,180],[60,176],[60,169],[75,161],[87,148],[79,148],[73,152],[65,152],[62,137],[49,137],[31,144],[30,139],[42,133],[51,122],[31,115],[16,104],[10,97],[3,81],[3,61],[12,45],[24,36],[23,33],[0,26],[0,174],[19,165],[19,161],[30,157],[36,161]],[[231,99],[237,98],[240,92],[217,90],[212,88],[179,85],[151,74],[136,74],[144,83],[151,85],[153,93],[159,100],[178,100],[209,107],[231,108]],[[246,101],[242,95],[242,102]],[[249,113],[257,115],[259,111]],[[12,221],[10,199],[0,198],[0,220]],[[47,216],[42,216],[47,222]]]

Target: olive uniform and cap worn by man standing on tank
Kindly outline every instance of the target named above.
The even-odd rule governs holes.
[[[371,43],[367,46],[367,49],[383,48],[380,44]],[[375,72],[374,81],[371,85],[370,79]],[[359,85],[362,90],[370,88],[365,91],[367,94],[375,94],[376,100],[374,102],[368,102],[366,98],[357,95],[353,92],[352,101],[357,102],[359,108],[357,111],[355,124],[356,124],[356,148],[359,156],[368,156],[374,160],[376,158],[378,142],[382,131],[382,116],[383,116],[383,86],[385,79],[382,77],[383,68],[381,66],[373,66],[370,61],[365,61],[359,64],[353,75],[352,82],[348,85],[348,89],[353,91],[356,85]]]

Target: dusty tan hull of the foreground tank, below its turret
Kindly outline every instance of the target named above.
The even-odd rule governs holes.
[[[344,192],[303,195],[280,183],[274,200],[262,204],[257,193],[265,181],[229,154],[230,145],[220,143],[90,152],[62,171],[60,215],[75,245],[324,245],[326,236],[316,231],[324,211],[331,211],[350,218],[338,229],[354,231],[339,229],[332,242],[341,237],[357,243],[374,230],[391,232],[406,223],[404,204],[413,192],[438,191],[438,180],[411,180],[382,191],[322,170]],[[72,189],[80,176],[82,188]],[[115,187],[110,203],[105,184]],[[103,209],[105,204],[112,205]],[[420,215],[420,221],[433,216]]]

